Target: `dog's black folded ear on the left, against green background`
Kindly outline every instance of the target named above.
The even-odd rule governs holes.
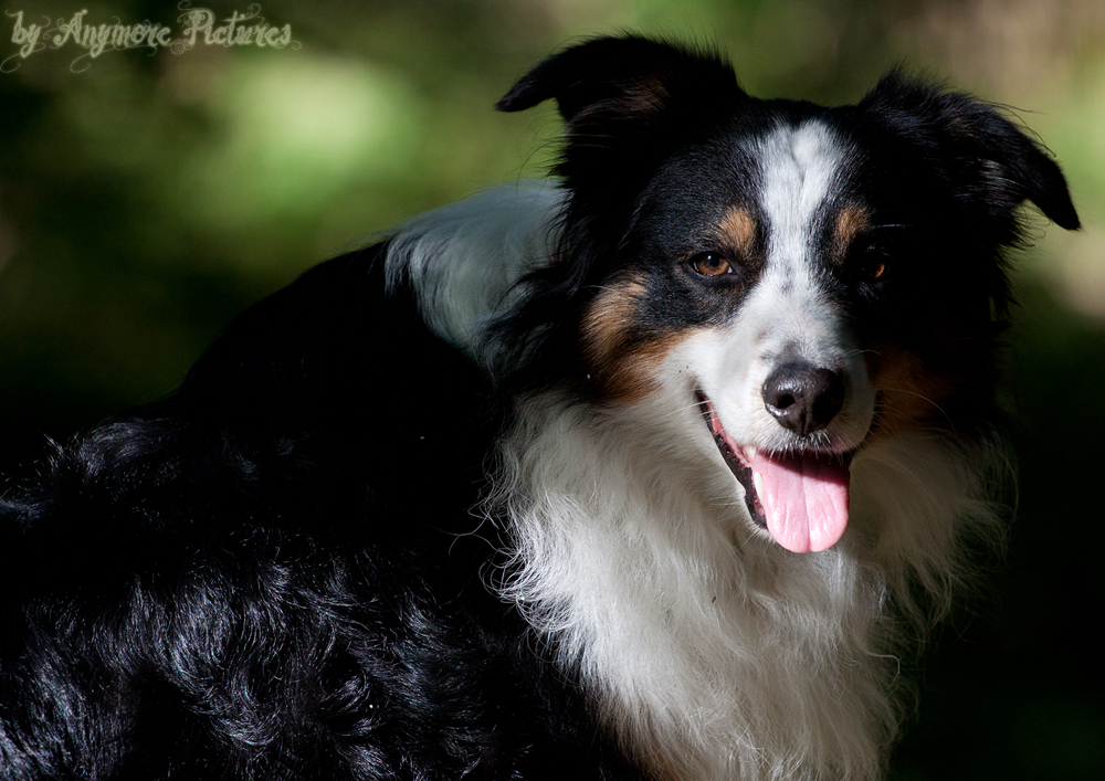
[[[572,184],[611,169],[642,171],[746,97],[715,53],[639,36],[599,38],[538,64],[496,108],[518,112],[555,98],[568,124],[557,172]]]

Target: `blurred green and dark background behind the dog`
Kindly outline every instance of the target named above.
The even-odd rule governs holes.
[[[193,2],[219,19],[248,3]],[[25,0],[24,25],[175,3]],[[852,102],[906,63],[1018,107],[1085,229],[1014,255],[1017,513],[992,585],[926,652],[893,778],[1105,778],[1105,3],[473,0],[261,6],[297,46],[27,59],[0,13],[0,472],[171,389],[229,319],[404,215],[540,175],[549,108],[491,109],[581,36],[724,46],[760,96]]]

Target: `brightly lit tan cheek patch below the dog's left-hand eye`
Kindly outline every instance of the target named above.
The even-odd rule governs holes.
[[[656,370],[687,331],[633,339],[644,285],[635,279],[615,283],[596,296],[583,315],[583,359],[592,381],[609,401],[633,403],[656,388]]]

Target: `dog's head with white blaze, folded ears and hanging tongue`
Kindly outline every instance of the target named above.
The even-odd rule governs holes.
[[[568,200],[516,315],[541,335],[530,355],[562,356],[592,401],[695,410],[753,520],[794,551],[843,534],[857,450],[989,416],[1019,207],[1078,225],[1013,123],[899,74],[823,108],[753,98],[714,54],[599,39],[498,107],[548,98]]]

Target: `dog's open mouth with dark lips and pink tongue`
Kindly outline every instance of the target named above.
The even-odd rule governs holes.
[[[698,401],[722,457],[745,488],[753,520],[796,553],[836,545],[848,526],[853,454],[815,450],[768,453],[739,445],[701,391]]]

